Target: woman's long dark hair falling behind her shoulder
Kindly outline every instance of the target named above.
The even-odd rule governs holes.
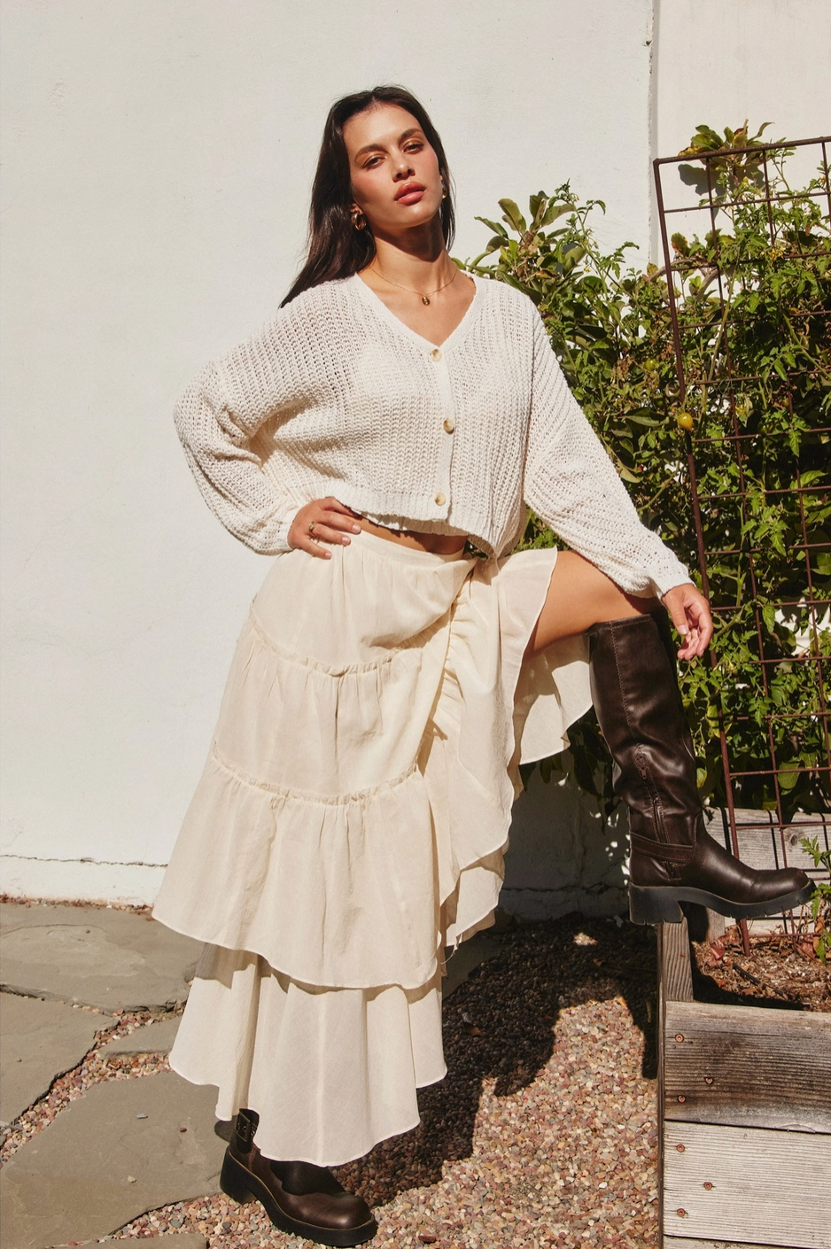
[[[375,256],[375,240],[369,226],[365,230],[356,230],[350,216],[354,196],[344,126],[355,114],[365,112],[379,104],[394,104],[412,114],[435,151],[447,190],[440,209],[441,229],[446,246],[450,247],[452,244],[456,215],[447,157],[424,105],[402,86],[375,86],[371,91],[345,95],[331,106],[326,117],[317,172],[311,189],[309,254],[281,307],[290,304],[301,291],[307,291],[310,286],[319,286],[320,282],[327,282],[334,277],[351,277],[359,269],[365,269]]]

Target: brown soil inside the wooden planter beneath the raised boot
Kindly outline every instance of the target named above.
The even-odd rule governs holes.
[[[694,940],[692,949],[699,1002],[831,1012],[831,959],[822,963],[817,958],[811,937],[784,932],[751,936],[746,954],[741,929],[734,926],[716,940]]]

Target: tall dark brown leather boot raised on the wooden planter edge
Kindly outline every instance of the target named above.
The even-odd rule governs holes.
[[[589,629],[591,696],[629,807],[629,909],[636,924],[680,923],[680,902],[750,919],[814,892],[796,868],[756,872],[705,831],[696,762],[664,608]]]

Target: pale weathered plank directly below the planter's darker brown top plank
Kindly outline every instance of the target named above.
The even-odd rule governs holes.
[[[831,1137],[701,1123],[664,1135],[666,1238],[831,1249]]]

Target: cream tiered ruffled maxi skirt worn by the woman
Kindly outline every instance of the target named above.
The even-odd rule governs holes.
[[[587,646],[522,663],[556,561],[369,533],[277,556],[239,639],[155,917],[206,943],[170,1055],[336,1165],[445,1074],[444,950],[492,922],[519,763],[591,704]]]

